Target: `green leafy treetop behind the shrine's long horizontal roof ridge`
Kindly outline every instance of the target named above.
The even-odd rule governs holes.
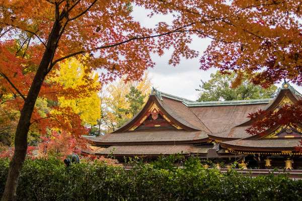
[[[199,85],[200,89],[195,89],[200,92],[200,97],[197,101],[218,101],[223,100],[245,100],[245,99],[261,99],[272,98],[275,96],[277,86],[272,85],[269,88],[250,83],[250,80],[243,79],[241,84],[236,88],[232,88],[232,82],[235,81],[236,74],[221,74],[217,71],[211,73],[211,79],[202,81]]]

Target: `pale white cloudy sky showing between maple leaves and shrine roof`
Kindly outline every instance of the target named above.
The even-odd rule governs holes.
[[[171,16],[155,16],[149,19],[147,17],[148,13],[145,9],[134,6],[132,16],[135,20],[139,21],[141,25],[148,28],[154,27],[160,21],[169,23],[169,21],[171,22],[172,20]],[[202,54],[209,43],[209,39],[201,40],[195,37],[190,47]],[[150,75],[152,76],[154,86],[160,91],[196,100],[198,91],[195,89],[199,88],[199,84],[201,84],[200,79],[207,81],[210,78],[210,74],[215,73],[216,69],[210,69],[208,71],[199,70],[199,58],[191,60],[183,58],[181,63],[174,67],[168,65],[170,55],[171,51],[166,51],[162,57],[157,55],[153,56],[156,66],[150,69]],[[277,84],[277,86],[280,87],[281,84]],[[299,92],[302,92],[302,87],[294,87]]]

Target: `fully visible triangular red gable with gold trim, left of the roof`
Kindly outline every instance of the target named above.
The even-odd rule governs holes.
[[[142,118],[128,129],[128,131],[157,128],[183,129],[166,117],[155,103],[152,103]]]

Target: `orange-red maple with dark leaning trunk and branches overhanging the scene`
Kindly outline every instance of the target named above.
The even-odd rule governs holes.
[[[171,14],[173,20],[145,28],[132,18],[131,4],[150,10],[149,17]],[[242,71],[263,86],[282,78],[294,83],[302,79],[297,0],[3,0],[0,7],[0,94],[13,94],[10,104],[21,111],[2,200],[14,199],[29,129],[46,128],[38,124],[42,118],[35,108],[37,98],[56,100],[58,93],[70,98],[81,94],[82,88],[66,91],[44,81],[46,76],[55,76],[53,69],[64,59],[87,57],[81,62],[88,70],[102,69],[101,83],[124,74],[126,80],[138,79],[155,65],[151,53],[161,56],[165,49],[173,49],[172,65],[181,57],[197,57],[198,52],[188,46],[190,35],[196,34],[213,39],[201,58],[202,68],[236,71],[235,85]],[[261,73],[254,73],[261,69]],[[60,114],[46,117],[54,120],[48,127],[64,128],[75,138],[86,132],[70,108],[56,110]]]

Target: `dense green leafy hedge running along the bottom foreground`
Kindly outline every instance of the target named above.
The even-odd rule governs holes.
[[[302,180],[286,175],[243,176],[235,170],[204,169],[198,159],[173,165],[132,162],[133,170],[103,164],[66,167],[57,159],[26,160],[17,200],[302,200]],[[9,161],[0,160],[0,195]]]

